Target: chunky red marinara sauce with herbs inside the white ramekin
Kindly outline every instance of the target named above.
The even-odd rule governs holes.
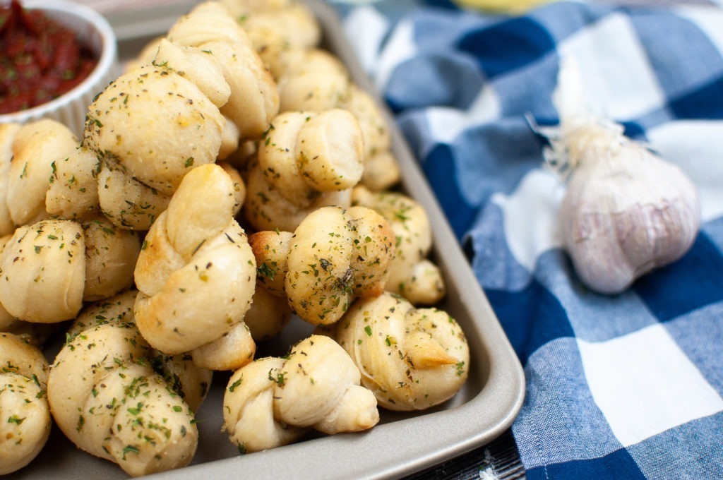
[[[0,7],[0,113],[59,97],[85,80],[96,64],[75,33],[41,10],[24,9],[18,0]]]

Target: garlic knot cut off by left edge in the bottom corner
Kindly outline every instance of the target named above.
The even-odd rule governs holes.
[[[0,475],[30,463],[48,440],[48,361],[36,346],[0,333]]]

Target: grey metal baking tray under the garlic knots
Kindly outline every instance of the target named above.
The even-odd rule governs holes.
[[[356,59],[341,27],[337,12],[320,0],[307,0],[323,30],[323,46],[335,53],[348,67],[360,87],[373,94],[373,87]],[[121,60],[132,58],[140,47],[163,35],[173,18],[188,11],[189,1],[179,1],[174,11],[166,7],[155,15],[147,11],[107,14],[111,25],[123,27],[119,39]],[[130,28],[133,19],[143,29]],[[155,25],[155,28],[153,27]],[[379,98],[377,97],[377,100]],[[221,432],[223,389],[229,374],[217,372],[207,400],[197,412],[199,445],[190,466],[154,479],[202,479],[243,476],[249,479],[377,479],[399,478],[450,460],[480,447],[505,432],[521,408],[524,374],[484,291],[479,287],[445,215],[442,213],[423,173],[408,150],[393,116],[380,103],[393,135],[393,150],[401,163],[402,189],[427,210],[434,226],[435,249],[432,260],[440,265],[448,296],[438,305],[460,323],[469,341],[471,364],[469,380],[442,406],[417,413],[380,410],[380,424],[367,432],[323,436],[309,434],[306,440],[247,455]],[[295,340],[311,333],[312,327],[294,319],[282,335],[260,345],[260,356],[283,354]],[[51,359],[52,360],[52,359]],[[127,478],[121,468],[107,460],[83,453],[67,440],[57,427],[43,451],[13,478],[105,480]]]

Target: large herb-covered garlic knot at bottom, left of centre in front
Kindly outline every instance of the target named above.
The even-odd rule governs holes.
[[[133,305],[134,293],[127,293],[80,314],[51,366],[48,402],[80,450],[141,476],[190,463],[198,432],[176,390],[182,382],[153,369],[155,353],[134,325]],[[200,392],[205,396],[205,387]]]

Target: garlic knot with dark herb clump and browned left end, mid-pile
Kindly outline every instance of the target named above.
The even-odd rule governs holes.
[[[261,231],[249,241],[260,285],[283,292],[312,325],[336,322],[354,299],[384,290],[394,256],[394,233],[366,207],[322,207],[288,232]]]

